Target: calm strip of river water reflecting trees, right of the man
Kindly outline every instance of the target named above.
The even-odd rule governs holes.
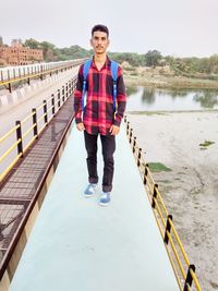
[[[215,89],[158,89],[129,86],[128,110],[204,110],[218,109],[218,90]]]

